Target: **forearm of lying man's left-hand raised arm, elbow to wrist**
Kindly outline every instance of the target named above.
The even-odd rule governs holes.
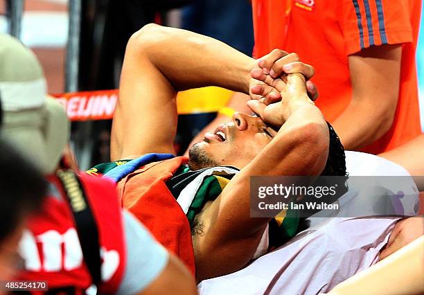
[[[249,93],[254,59],[211,37],[150,24],[131,46],[161,71],[176,91],[209,85]]]

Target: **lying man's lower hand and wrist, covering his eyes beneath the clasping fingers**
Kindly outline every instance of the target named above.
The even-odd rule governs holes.
[[[267,104],[266,98],[247,102],[250,109],[260,118],[276,127],[285,123],[295,107],[305,103],[314,105],[314,102],[308,98],[305,77],[302,74],[289,74],[287,83],[282,80],[281,83],[284,83],[281,91],[283,99],[280,99],[279,102]]]

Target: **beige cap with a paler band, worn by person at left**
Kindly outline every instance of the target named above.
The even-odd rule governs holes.
[[[69,139],[64,107],[47,98],[37,57],[19,40],[0,34],[2,134],[44,173],[58,166]]]

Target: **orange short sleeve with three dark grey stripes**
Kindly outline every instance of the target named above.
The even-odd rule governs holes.
[[[339,26],[346,55],[384,44],[412,42],[412,24],[407,0],[343,0]]]

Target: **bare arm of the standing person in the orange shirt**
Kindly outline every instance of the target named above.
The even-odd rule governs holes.
[[[348,57],[352,100],[333,123],[346,150],[369,145],[390,129],[398,102],[401,57],[402,45],[372,46]]]

